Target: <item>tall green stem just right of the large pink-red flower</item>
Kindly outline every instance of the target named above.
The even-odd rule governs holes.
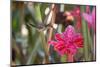
[[[85,7],[81,6],[81,11],[84,12],[85,11]],[[88,42],[88,25],[85,22],[84,19],[82,19],[82,32],[83,32],[83,37],[84,37],[84,57],[85,57],[85,61],[89,61],[89,42]]]

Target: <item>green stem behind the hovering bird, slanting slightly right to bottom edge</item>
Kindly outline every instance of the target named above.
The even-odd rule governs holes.
[[[35,19],[38,23],[42,23],[42,16],[41,16],[41,11],[40,11],[40,4],[39,3],[34,3],[34,10],[35,10]],[[37,23],[37,24],[38,24]],[[42,40],[42,46],[45,52],[45,63],[49,62],[49,51],[48,51],[48,44],[45,40],[45,35],[43,34],[43,31],[40,31],[40,36],[41,36],[41,40]]]

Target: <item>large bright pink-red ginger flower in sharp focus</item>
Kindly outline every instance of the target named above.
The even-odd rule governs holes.
[[[83,47],[83,37],[80,33],[75,32],[73,26],[69,25],[62,34],[56,33],[55,41],[49,41],[49,44],[51,44],[60,55],[74,55],[78,48]]]

